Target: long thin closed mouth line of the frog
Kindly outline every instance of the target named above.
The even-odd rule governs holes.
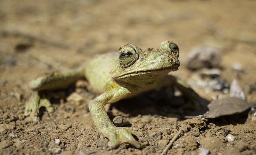
[[[122,78],[127,78],[127,77],[132,77],[132,76],[140,76],[140,75],[145,75],[145,74],[156,74],[159,73],[160,71],[165,71],[166,73],[169,73],[171,71],[177,71],[178,67],[172,67],[172,68],[168,68],[168,69],[154,69],[154,70],[148,70],[148,71],[136,71],[136,72],[130,72],[130,73],[126,73],[126,74],[122,74],[120,76],[118,76],[118,79],[122,79]]]

